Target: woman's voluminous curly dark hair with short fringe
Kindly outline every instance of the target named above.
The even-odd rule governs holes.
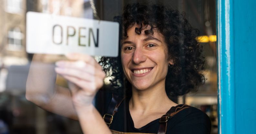
[[[151,29],[144,31],[146,35],[153,35],[156,29],[164,36],[169,59],[174,63],[168,68],[165,80],[168,96],[197,91],[198,86],[205,82],[202,74],[205,59],[201,55],[202,46],[196,39],[199,31],[188,23],[184,13],[163,5],[133,4],[126,5],[123,15],[114,17],[114,20],[120,23],[120,38],[127,38],[127,30],[135,24],[139,26],[135,28],[137,34],[141,34],[145,26],[150,26]],[[119,47],[118,57],[102,57],[99,63],[105,72],[112,70],[109,76],[113,87],[124,86],[129,92],[131,84],[123,75],[120,55]]]

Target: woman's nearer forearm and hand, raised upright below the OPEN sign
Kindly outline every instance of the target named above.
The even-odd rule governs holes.
[[[89,55],[71,53],[67,58],[69,61],[57,62],[55,70],[69,81],[73,104],[83,132],[111,134],[100,113],[92,105],[94,96],[103,86],[105,72]]]

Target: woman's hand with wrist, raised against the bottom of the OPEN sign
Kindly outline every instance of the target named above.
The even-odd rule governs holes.
[[[55,71],[69,81],[75,107],[90,106],[106,74],[89,55],[69,53],[66,57],[69,61],[56,62]]]

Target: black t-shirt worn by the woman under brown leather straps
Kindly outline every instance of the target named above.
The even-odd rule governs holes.
[[[111,96],[106,97],[106,104],[111,101]],[[139,129],[134,128],[128,102],[129,99],[126,99],[120,104],[109,128],[119,132],[156,134],[160,126],[159,119],[153,120]],[[106,111],[107,109],[105,113]],[[166,134],[209,134],[210,131],[211,122],[207,114],[197,108],[189,107],[179,111],[168,120]]]

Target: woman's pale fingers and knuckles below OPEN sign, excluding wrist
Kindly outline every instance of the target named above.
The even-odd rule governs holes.
[[[69,53],[71,61],[56,62],[55,71],[83,90],[98,90],[106,74],[94,58],[86,54]]]

